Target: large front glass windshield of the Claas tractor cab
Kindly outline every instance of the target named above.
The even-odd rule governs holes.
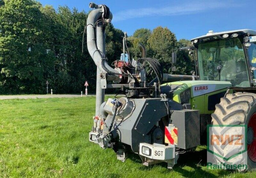
[[[250,86],[243,44],[238,38],[199,44],[197,55],[200,80]]]

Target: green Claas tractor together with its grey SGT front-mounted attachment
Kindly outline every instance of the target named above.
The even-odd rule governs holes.
[[[180,154],[206,144],[208,125],[247,125],[246,169],[255,169],[256,31],[209,31],[192,39],[178,49],[194,56],[192,75],[163,74],[142,44],[141,58],[133,59],[124,34],[123,52],[111,67],[105,27],[113,15],[106,5],[89,6],[87,48],[97,66],[91,142],[112,148],[121,161],[136,153],[145,166],[166,162],[172,168]],[[175,53],[171,61],[175,65]],[[123,97],[104,101],[105,89],[119,89]]]

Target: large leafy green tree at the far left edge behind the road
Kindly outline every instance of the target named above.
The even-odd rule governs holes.
[[[40,7],[32,0],[5,0],[0,7],[2,92],[42,92],[52,53],[44,43],[50,30]]]

